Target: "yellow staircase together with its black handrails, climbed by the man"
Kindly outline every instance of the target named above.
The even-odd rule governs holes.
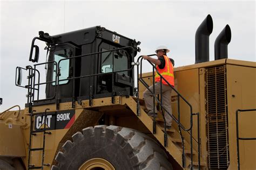
[[[151,54],[147,56],[153,56],[153,55],[156,55],[156,54]],[[186,99],[181,94],[179,94],[179,92],[176,89],[174,89],[168,81],[164,79],[164,77],[158,72],[156,66],[153,65],[153,63],[150,62],[149,60],[147,61],[150,63],[150,65],[153,68],[152,84],[154,84],[154,75],[156,72],[160,76],[160,82],[162,82],[162,80],[166,81],[167,85],[170,86],[173,89],[173,91],[178,95],[178,118],[173,117],[173,121],[172,121],[172,124],[174,123],[178,124],[178,129],[174,129],[173,127],[170,130],[165,129],[164,128],[165,121],[162,114],[158,114],[156,118],[152,119],[152,117],[148,116],[144,111],[145,109],[144,100],[139,99],[139,94],[138,94],[139,82],[147,89],[149,89],[149,84],[147,84],[142,77],[142,68],[143,68],[142,61],[143,61],[142,56],[139,56],[137,62],[134,63],[134,65],[137,66],[137,79],[138,79],[137,88],[134,93],[136,98],[130,97],[130,101],[129,103],[127,103],[127,105],[129,105],[129,107],[132,109],[134,114],[136,114],[140,119],[140,121],[142,121],[143,124],[147,127],[147,129],[149,129],[151,133],[154,134],[154,137],[158,139],[161,145],[163,145],[166,148],[166,150],[172,155],[172,157],[179,163],[181,167],[183,167],[184,169],[187,169],[187,168],[207,169],[206,161],[200,157],[200,144],[198,144],[197,149],[195,147],[196,145],[193,146],[192,144],[193,143],[192,118],[194,115],[197,115],[198,122],[199,122],[199,113],[198,114],[192,113],[192,105],[188,103]],[[162,108],[161,111],[164,110],[166,112],[166,110],[163,108],[161,101],[159,100],[159,98],[162,98],[161,93],[159,94],[160,97],[156,96],[156,94],[154,94],[154,86],[153,86],[153,90],[152,91],[149,90],[149,91],[151,92],[154,98],[154,102],[157,102],[160,108]],[[191,127],[189,129],[185,129],[184,126],[180,123],[180,103],[179,103],[180,99],[183,100],[188,105],[188,107],[190,107],[190,126]],[[199,124],[198,124],[198,127],[199,127]],[[189,134],[190,143],[188,143],[188,141],[186,141],[185,138],[183,137],[184,131],[185,133]],[[198,130],[198,142],[200,141],[199,137],[200,135]]]

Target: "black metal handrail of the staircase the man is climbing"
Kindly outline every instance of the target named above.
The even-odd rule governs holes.
[[[151,54],[151,55],[147,55],[147,56],[154,56],[156,54]],[[140,60],[140,62],[139,62]],[[190,143],[191,143],[191,169],[193,167],[193,137],[192,137],[192,127],[193,127],[193,115],[197,115],[198,116],[198,141],[196,141],[198,143],[198,166],[199,166],[199,169],[200,169],[200,137],[199,137],[199,112],[196,113],[196,114],[193,114],[192,112],[192,106],[190,103],[188,103],[186,101],[186,99],[176,90],[174,89],[174,87],[168,82],[165,80],[165,78],[158,72],[156,66],[153,65],[152,62],[150,62],[149,60],[147,60],[151,65],[152,65],[152,68],[153,68],[153,72],[152,72],[152,76],[153,76],[153,91],[151,91],[149,89],[149,86],[147,85],[147,83],[142,79],[142,56],[139,56],[138,60],[137,60],[137,65],[139,65],[140,63],[140,76],[139,76],[139,67],[137,67],[137,74],[138,74],[138,84],[137,84],[137,90],[139,91],[139,81],[147,88],[147,90],[150,91],[150,93],[152,94],[153,96],[153,103],[156,101],[161,109],[162,109],[162,114],[163,114],[163,118],[164,118],[164,133],[165,133],[165,146],[167,146],[167,132],[166,132],[166,121],[165,121],[165,117],[164,117],[164,113],[163,113],[163,109],[165,111],[165,114],[167,113],[168,115],[170,115],[174,121],[178,124],[178,128],[179,128],[179,133],[180,133],[180,136],[181,136],[181,144],[182,144],[182,148],[183,148],[183,156],[182,156],[182,161],[183,161],[183,167],[185,167],[185,150],[184,150],[184,137],[181,133],[181,129],[183,129],[184,131],[190,131]],[[162,105],[162,102],[158,100],[158,97],[154,94],[154,73],[155,73],[155,70],[156,72],[158,73],[158,75],[160,76],[160,97],[162,95],[161,91],[162,91],[162,79],[167,82],[168,86],[170,86],[177,94],[178,94],[178,119],[176,117],[174,117],[173,115],[170,114],[169,111],[167,111],[163,105]],[[162,98],[162,97],[161,97]],[[190,107],[190,128],[189,129],[186,129],[181,123],[180,123],[180,105],[179,105],[179,98],[181,98],[189,107]],[[154,104],[153,104],[154,105]],[[155,108],[153,108],[154,110]],[[139,112],[139,96],[137,96],[137,115],[139,115],[140,112]],[[154,115],[153,117],[153,133],[156,133],[156,116]]]

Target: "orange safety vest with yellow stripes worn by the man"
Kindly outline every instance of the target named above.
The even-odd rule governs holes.
[[[157,70],[165,78],[165,80],[167,80],[174,87],[174,74],[172,62],[166,55],[163,56],[165,59],[165,67],[163,69],[160,69],[157,65]],[[167,85],[165,80],[162,79],[162,83]],[[160,82],[160,75],[157,74],[157,72],[154,81]]]

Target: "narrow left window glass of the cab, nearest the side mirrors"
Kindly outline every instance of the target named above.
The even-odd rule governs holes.
[[[70,57],[70,49],[61,49],[53,53],[53,59],[57,63],[59,62],[59,60],[69,58],[69,57]],[[59,69],[60,69],[59,80],[64,80],[69,77],[69,61],[70,60],[62,60],[59,62]],[[56,73],[57,73],[57,67],[56,65],[54,65],[52,81],[56,80]],[[59,84],[66,84],[68,82],[69,80],[59,81]],[[55,86],[55,82],[53,82],[52,85]]]

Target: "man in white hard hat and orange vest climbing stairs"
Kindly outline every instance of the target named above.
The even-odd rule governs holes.
[[[157,67],[158,72],[167,80],[171,86],[174,87],[174,74],[173,74],[173,65],[170,59],[167,57],[166,53],[170,52],[170,50],[166,46],[159,46],[155,51],[157,53],[158,59],[153,59],[150,56],[144,55],[144,60],[149,60],[154,63]],[[160,94],[160,86],[162,83],[162,103],[163,107],[172,115],[172,107],[171,107],[171,91],[172,88],[167,84],[167,82],[162,79],[160,82],[160,76],[158,74],[155,75],[155,84],[154,84],[154,92],[155,94]],[[149,87],[151,91],[153,91],[153,85]],[[143,93],[144,101],[146,104],[147,110],[149,110],[148,115],[154,116],[157,114],[153,112],[153,95],[150,93],[148,89],[146,89]],[[164,110],[164,109],[163,109]],[[166,128],[171,129],[172,125],[172,117],[164,111],[164,117],[166,121]]]

